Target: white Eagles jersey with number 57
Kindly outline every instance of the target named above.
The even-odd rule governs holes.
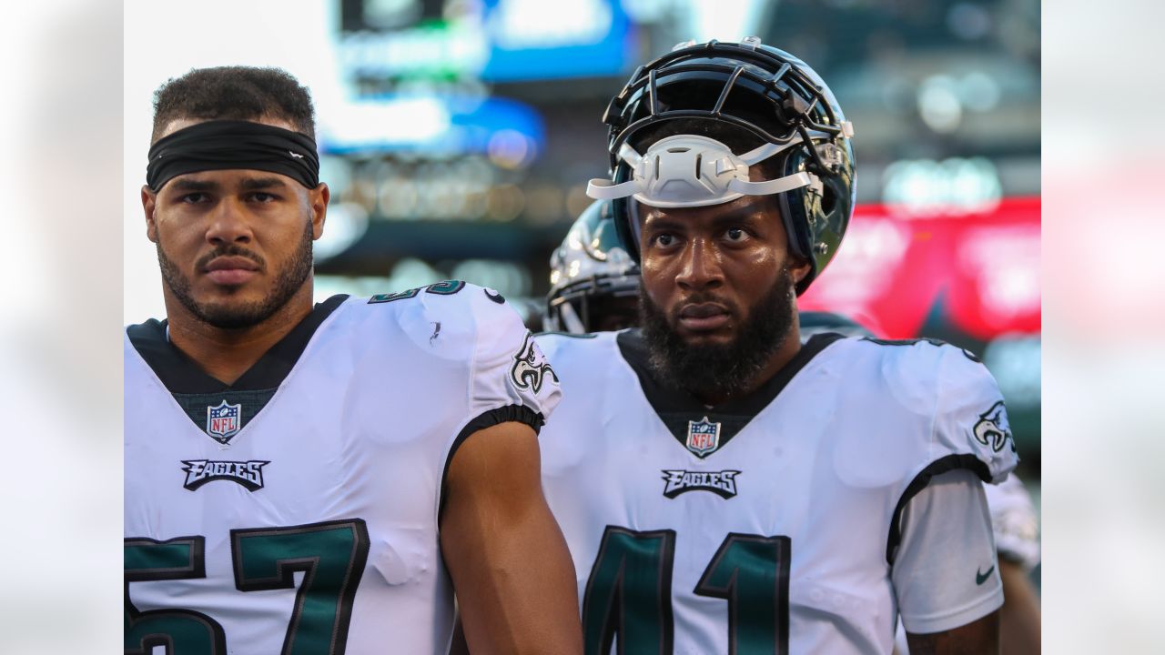
[[[126,653],[445,653],[449,462],[559,397],[503,302],[461,282],[337,296],[230,387],[163,323],[129,328]]]

